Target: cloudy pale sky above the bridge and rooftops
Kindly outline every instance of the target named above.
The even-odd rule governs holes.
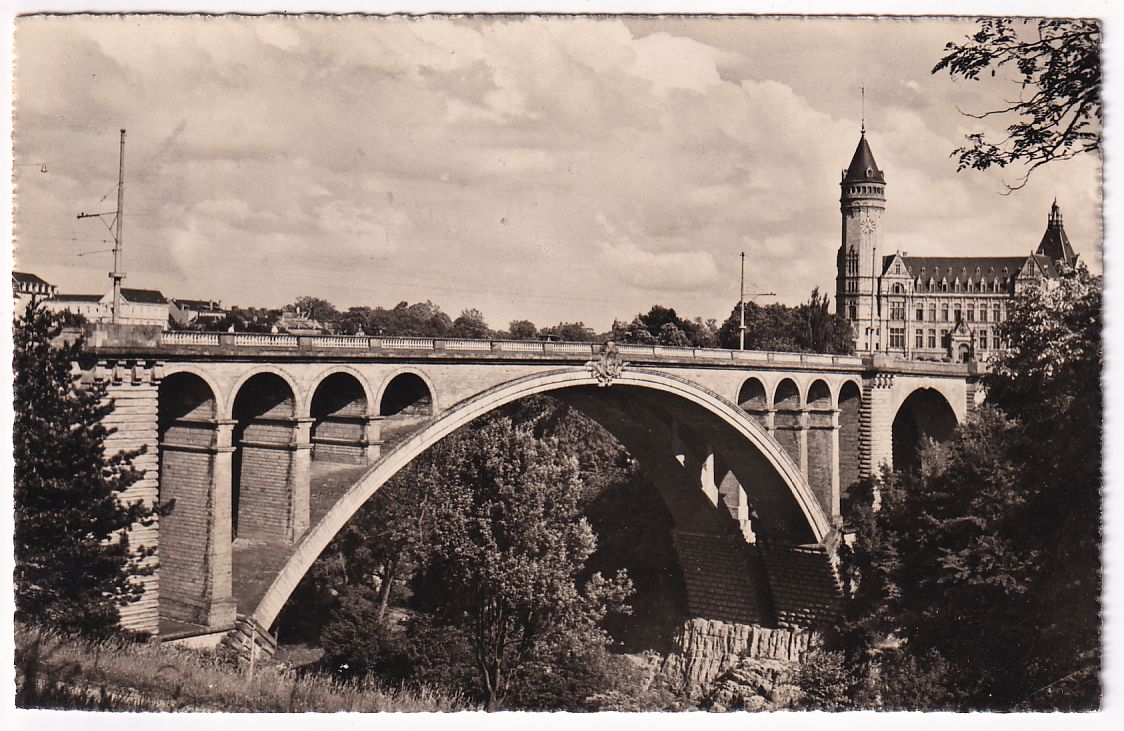
[[[496,328],[724,318],[833,292],[839,181],[867,136],[886,251],[1019,255],[1057,197],[1100,271],[1100,161],[957,172],[1009,79],[933,75],[969,20],[25,17],[16,265],[225,305],[433,300]],[[46,172],[43,172],[44,168]]]

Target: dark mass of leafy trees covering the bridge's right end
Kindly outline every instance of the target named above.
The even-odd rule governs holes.
[[[919,473],[888,476],[878,511],[872,493],[849,495],[836,642],[852,665],[880,668],[867,676],[883,700],[1099,704],[1100,313],[1084,268],[1021,292],[989,403],[923,451]],[[933,671],[909,685],[888,665]]]

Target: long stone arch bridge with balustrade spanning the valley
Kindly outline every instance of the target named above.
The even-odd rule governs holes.
[[[605,426],[676,529],[692,616],[825,619],[840,496],[979,398],[978,363],[661,345],[151,333],[100,327],[107,451],[144,448],[124,499],[167,502],[135,544],[160,570],[123,622],[218,637],[275,621],[320,550],[395,472],[504,404],[550,394]]]

